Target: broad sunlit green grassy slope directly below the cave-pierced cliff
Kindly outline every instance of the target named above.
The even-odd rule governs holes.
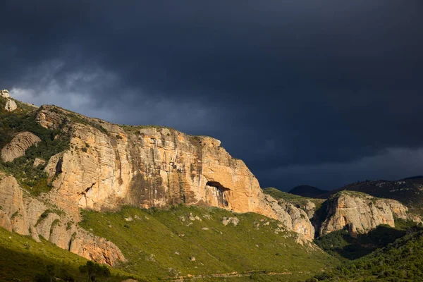
[[[336,263],[320,250],[295,243],[293,233],[276,234],[276,221],[258,214],[185,206],[169,210],[124,207],[117,213],[83,214],[82,227],[112,240],[129,259],[121,269],[150,279],[271,271],[293,273],[288,276],[295,281]],[[201,221],[191,221],[190,214]],[[238,226],[223,225],[222,218],[231,216],[240,219]],[[129,217],[134,220],[125,221]]]

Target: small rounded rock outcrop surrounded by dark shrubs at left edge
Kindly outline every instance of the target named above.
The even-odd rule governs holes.
[[[41,139],[30,132],[18,133],[11,142],[1,149],[1,159],[3,161],[13,161],[25,155],[25,151],[32,145],[37,145]]]

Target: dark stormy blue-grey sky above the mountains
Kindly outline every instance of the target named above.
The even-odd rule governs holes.
[[[262,187],[423,174],[422,0],[0,3],[0,88],[221,140]]]

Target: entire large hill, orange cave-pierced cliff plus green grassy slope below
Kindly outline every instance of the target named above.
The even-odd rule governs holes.
[[[16,107],[6,106],[12,102]],[[4,279],[28,280],[51,262],[60,269],[56,252],[72,276],[82,275],[84,257],[111,266],[112,281],[295,281],[337,262],[310,242],[314,228],[305,212],[265,195],[219,140],[115,125],[7,96],[0,103],[0,226],[43,244],[45,256],[33,268],[10,260],[27,271],[4,269]],[[0,247],[10,256],[10,246]]]

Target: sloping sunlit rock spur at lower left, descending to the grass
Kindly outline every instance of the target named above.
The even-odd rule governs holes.
[[[47,201],[25,196],[16,179],[0,173],[0,226],[21,235],[42,236],[51,243],[102,264],[124,261],[110,241],[78,227],[66,212]]]

